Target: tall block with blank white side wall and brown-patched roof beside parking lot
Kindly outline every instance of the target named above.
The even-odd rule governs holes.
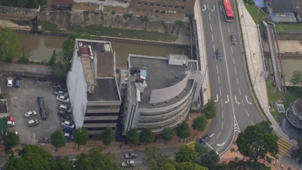
[[[90,135],[116,128],[121,97],[110,42],[76,39],[67,86],[76,128]]]

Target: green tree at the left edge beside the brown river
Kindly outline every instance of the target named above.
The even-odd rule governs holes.
[[[10,28],[0,27],[0,61],[10,62],[12,58],[21,58],[19,39]]]

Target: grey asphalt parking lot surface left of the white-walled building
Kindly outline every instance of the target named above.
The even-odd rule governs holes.
[[[9,76],[15,78],[15,76]],[[35,79],[20,78],[20,87],[7,87],[6,76],[0,76],[0,88],[7,96],[8,114],[13,116],[15,125],[13,129],[18,132],[20,144],[38,144],[49,142],[50,134],[58,129],[63,129],[61,122],[63,118],[57,115],[58,107],[63,104],[56,100],[53,84],[51,81],[40,81]],[[42,120],[40,116],[37,97],[44,98],[47,119]],[[36,111],[37,115],[25,118],[24,113]],[[36,119],[39,124],[28,127],[28,120]],[[9,129],[9,128],[8,128]]]

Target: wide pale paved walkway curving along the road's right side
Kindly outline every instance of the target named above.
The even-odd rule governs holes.
[[[243,0],[238,0],[238,12],[239,16],[242,16],[242,18],[240,19],[240,25],[243,34],[246,62],[248,65],[248,74],[250,76],[251,81],[250,84],[254,84],[254,94],[256,95],[256,98],[260,103],[260,107],[264,111],[263,114],[265,114],[269,121],[272,123],[271,127],[274,129],[274,131],[279,136],[297,145],[296,140],[289,139],[288,136],[282,131],[282,129],[279,128],[279,124],[269,111],[269,102],[266,91],[265,79],[260,76],[261,72],[264,72],[264,64],[262,59],[258,27],[243,3]]]

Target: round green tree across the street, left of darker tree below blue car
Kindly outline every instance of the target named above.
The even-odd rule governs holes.
[[[175,152],[175,161],[177,163],[195,163],[198,164],[200,161],[200,155],[188,145],[183,145],[178,148],[178,151]]]

